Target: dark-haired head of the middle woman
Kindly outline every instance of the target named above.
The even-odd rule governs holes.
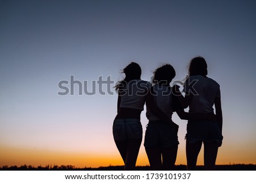
[[[164,64],[154,71],[153,84],[170,84],[175,77],[175,69],[170,64]]]

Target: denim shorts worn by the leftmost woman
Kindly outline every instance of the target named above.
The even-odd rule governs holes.
[[[139,119],[115,119],[113,123],[115,140],[142,139],[142,125]]]

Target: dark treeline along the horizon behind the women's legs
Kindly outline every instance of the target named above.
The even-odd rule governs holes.
[[[177,165],[175,166],[175,171],[185,171],[187,166],[185,165]],[[0,168],[1,171],[122,171],[124,166],[108,166],[108,167],[98,167],[98,168],[91,168],[91,167],[84,167],[84,168],[76,168],[75,166],[3,166]],[[149,166],[137,166],[137,171],[149,171]],[[197,166],[197,171],[203,171],[204,166]],[[217,171],[255,171],[256,165],[254,164],[230,164],[230,165],[217,165]]]

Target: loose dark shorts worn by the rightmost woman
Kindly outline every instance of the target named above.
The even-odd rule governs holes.
[[[222,135],[218,123],[214,121],[188,121],[187,134],[185,139],[190,143],[202,141],[209,142],[222,142]]]

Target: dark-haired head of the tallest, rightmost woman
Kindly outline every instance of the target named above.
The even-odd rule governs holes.
[[[207,63],[204,57],[201,57],[201,56],[194,57],[190,61],[188,74],[189,76],[193,76],[193,75],[207,76],[208,74]]]

